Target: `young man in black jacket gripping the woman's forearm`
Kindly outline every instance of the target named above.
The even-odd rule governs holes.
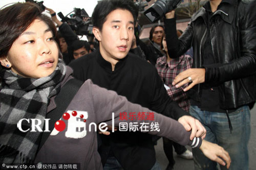
[[[131,1],[98,3],[92,20],[99,50],[70,64],[74,69],[74,76],[82,81],[91,79],[101,87],[126,96],[130,102],[179,120],[186,130],[192,129],[193,136],[190,139],[203,136],[205,129],[198,120],[187,116],[185,111],[170,100],[155,67],[135,55],[128,54],[134,37],[136,15]],[[127,118],[131,114],[133,113],[127,113]],[[157,168],[150,135],[115,132],[110,136],[101,135],[101,139],[99,153],[103,165],[106,161],[104,169]],[[117,166],[112,166],[113,164]]]

